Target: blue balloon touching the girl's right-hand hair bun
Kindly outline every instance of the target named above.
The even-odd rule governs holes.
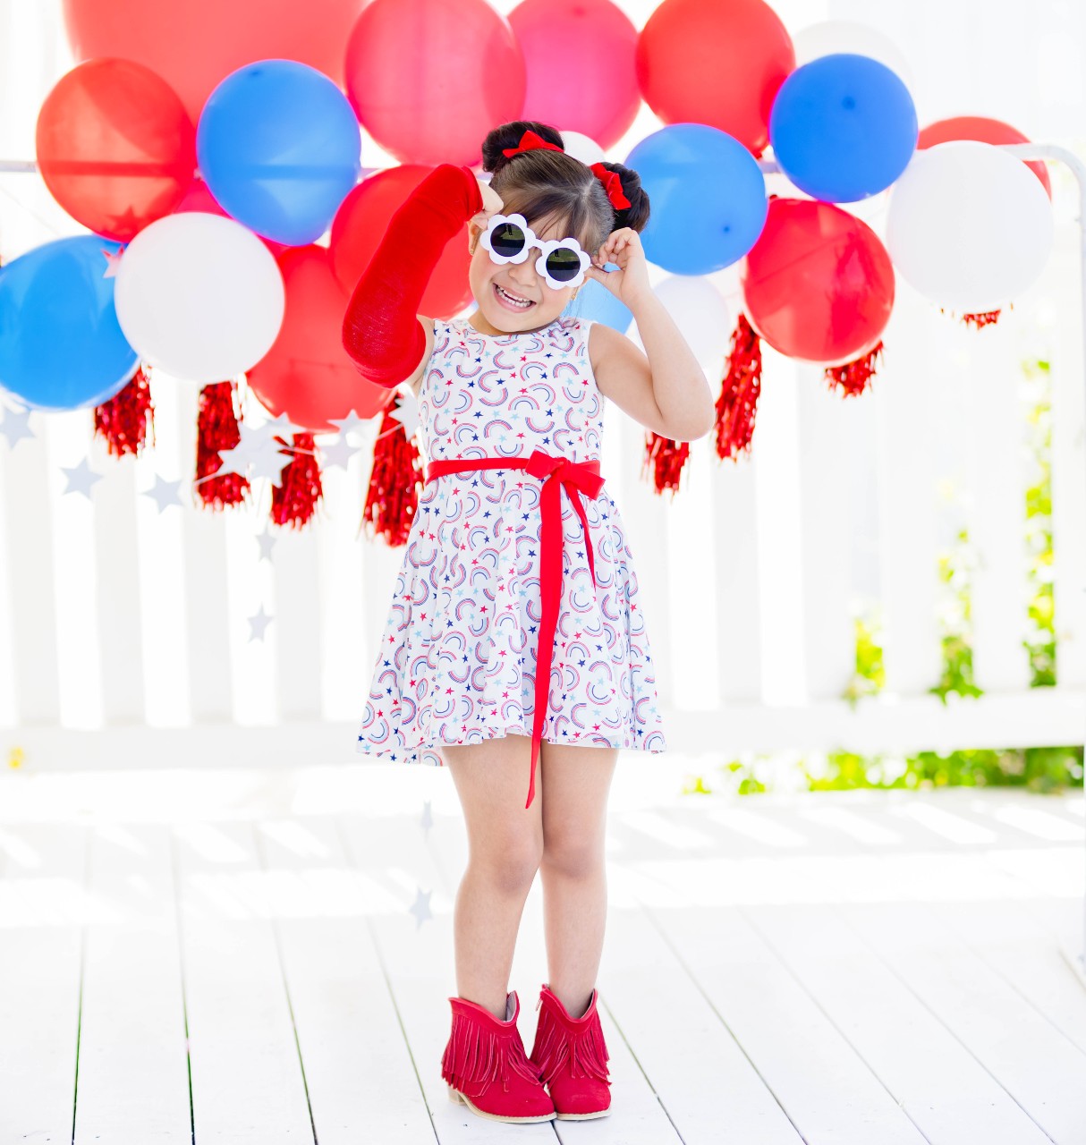
[[[671,124],[643,139],[625,165],[648,192],[645,255],[664,270],[722,270],[762,234],[769,211],[765,179],[754,156],[726,132]]]

